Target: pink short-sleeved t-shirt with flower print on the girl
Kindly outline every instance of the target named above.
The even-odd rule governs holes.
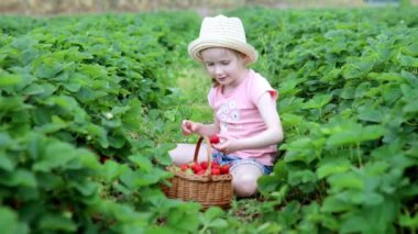
[[[266,130],[264,120],[255,105],[265,92],[268,92],[276,101],[277,91],[264,77],[252,69],[245,79],[228,94],[222,93],[220,86],[212,87],[208,94],[208,101],[220,123],[219,136],[244,138]],[[276,145],[271,145],[264,148],[234,152],[232,155],[241,158],[255,158],[261,164],[272,165],[272,158],[276,151]]]

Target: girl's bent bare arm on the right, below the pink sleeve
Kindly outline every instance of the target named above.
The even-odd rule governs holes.
[[[271,94],[265,92],[256,103],[256,107],[267,126],[267,129],[254,136],[241,140],[227,140],[224,143],[215,145],[213,147],[222,151],[224,154],[230,154],[237,151],[261,148],[268,145],[274,145],[283,141],[283,126],[278,116],[276,104]]]

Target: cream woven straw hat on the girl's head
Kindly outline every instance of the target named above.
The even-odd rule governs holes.
[[[199,37],[189,44],[188,53],[195,60],[202,62],[200,52],[210,47],[226,47],[241,52],[248,56],[249,64],[255,63],[258,57],[254,47],[246,43],[244,26],[238,18],[220,14],[204,19]]]

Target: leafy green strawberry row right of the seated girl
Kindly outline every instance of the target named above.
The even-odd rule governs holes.
[[[279,91],[286,140],[261,179],[286,231],[418,226],[418,11],[237,11]],[[256,23],[254,23],[256,22]]]

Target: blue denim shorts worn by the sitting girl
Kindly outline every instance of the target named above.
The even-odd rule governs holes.
[[[233,155],[224,155],[222,152],[218,151],[212,153],[212,160],[217,161],[219,165],[229,164],[231,166],[231,170],[239,165],[251,164],[258,167],[264,175],[268,175],[273,171],[273,166],[260,164],[254,158],[240,158]]]

